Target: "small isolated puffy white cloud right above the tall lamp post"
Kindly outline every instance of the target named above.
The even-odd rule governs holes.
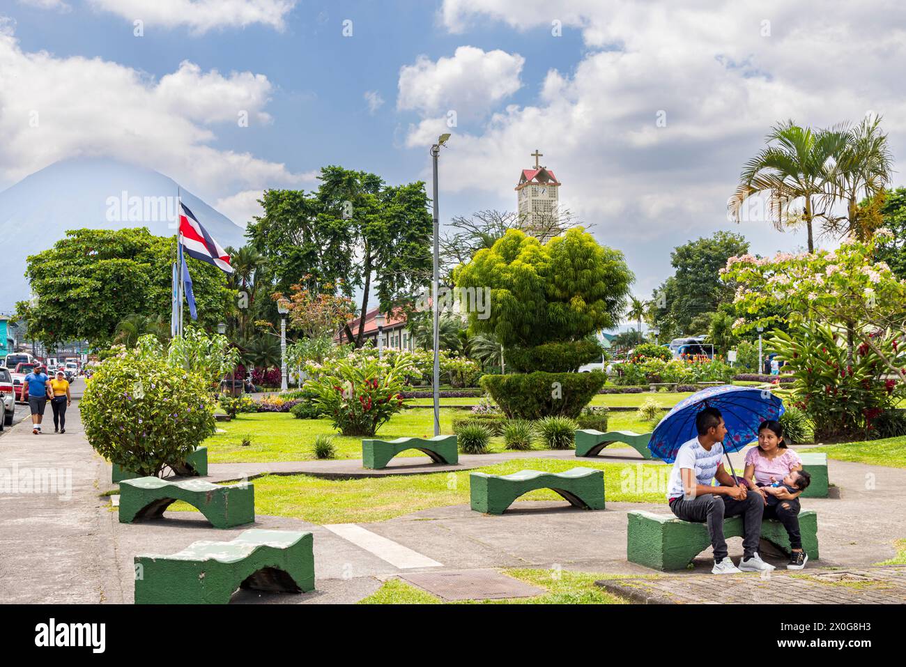
[[[397,108],[424,116],[456,111],[459,118],[481,118],[522,87],[524,63],[518,53],[475,46],[460,46],[436,63],[419,55],[415,64],[400,68]]]

